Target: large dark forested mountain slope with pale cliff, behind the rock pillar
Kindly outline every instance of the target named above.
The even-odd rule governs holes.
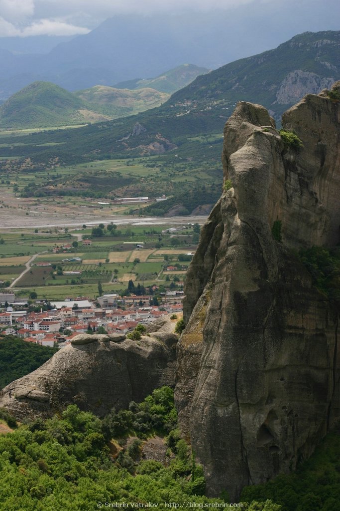
[[[221,137],[237,102],[264,105],[279,126],[283,110],[308,92],[317,94],[323,88],[330,88],[340,78],[339,51],[339,31],[306,32],[274,50],[197,77],[158,108],[72,130],[49,130],[25,136],[3,134],[0,156],[25,154],[35,168],[50,168],[56,158],[59,165],[70,165],[155,156],[157,159],[146,165],[163,169],[164,173],[158,176],[159,188],[174,198],[165,201],[162,208],[156,204],[156,210],[152,205],[144,212],[168,213],[177,204],[188,205],[189,201],[190,208],[186,208],[191,213],[199,205],[212,204],[219,196]],[[20,161],[11,163],[14,171],[20,167]],[[169,178],[169,166],[179,179],[175,189],[170,186],[175,181]],[[205,175],[209,173],[204,182],[201,171]],[[183,172],[185,177],[180,176]],[[153,196],[154,182],[135,179],[134,183],[135,195]]]

